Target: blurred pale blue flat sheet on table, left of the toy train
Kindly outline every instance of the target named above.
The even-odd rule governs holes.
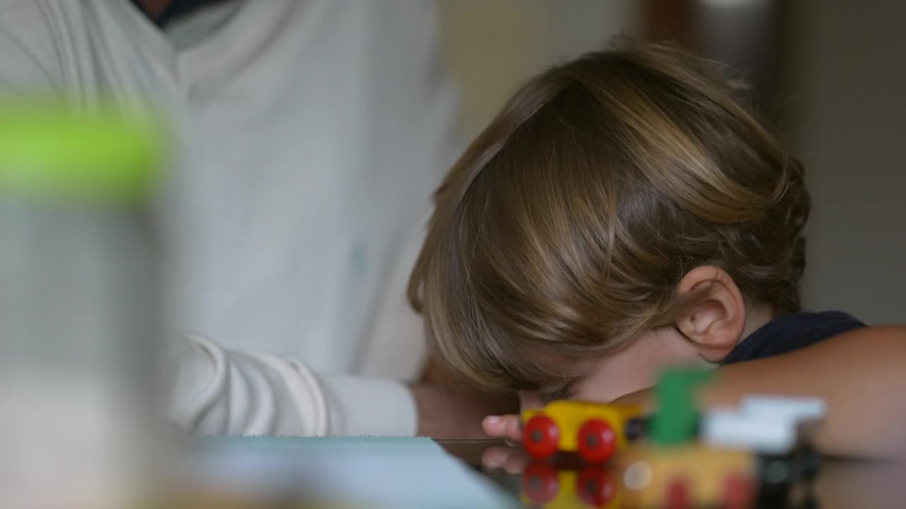
[[[194,446],[180,508],[518,506],[428,437],[207,437]]]

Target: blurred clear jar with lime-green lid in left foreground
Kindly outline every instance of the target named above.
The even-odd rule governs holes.
[[[151,479],[156,130],[0,103],[0,506],[125,507]],[[159,449],[158,449],[159,450]]]

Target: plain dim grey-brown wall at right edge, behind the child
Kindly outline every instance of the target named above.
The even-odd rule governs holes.
[[[906,3],[800,4],[790,74],[814,201],[805,298],[906,322]]]

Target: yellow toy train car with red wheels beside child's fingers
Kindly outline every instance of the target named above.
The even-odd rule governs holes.
[[[577,452],[590,463],[607,461],[614,452],[644,434],[641,407],[559,400],[522,413],[523,446],[545,458],[557,451]]]

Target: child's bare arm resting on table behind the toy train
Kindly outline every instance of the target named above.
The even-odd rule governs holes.
[[[621,398],[647,403],[649,391]],[[704,407],[747,393],[817,396],[827,417],[814,443],[825,454],[906,457],[906,327],[847,332],[800,351],[718,369]]]

